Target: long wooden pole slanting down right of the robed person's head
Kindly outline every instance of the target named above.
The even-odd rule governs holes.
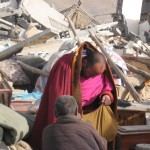
[[[131,83],[129,83],[125,77],[125,75],[122,73],[122,71],[117,67],[117,65],[113,62],[113,60],[111,59],[111,57],[109,56],[109,54],[105,51],[104,46],[98,41],[97,37],[94,36],[90,31],[90,37],[93,39],[93,41],[96,43],[97,46],[99,46],[99,48],[101,49],[102,53],[105,55],[105,57],[107,58],[108,62],[110,63],[110,65],[113,67],[113,69],[116,71],[116,73],[118,74],[118,76],[123,80],[124,84],[126,85],[126,87],[128,88],[129,92],[131,93],[132,97],[134,98],[135,101],[137,102],[142,102],[142,98],[140,97],[140,95],[137,93],[137,91],[135,90],[135,88],[131,85]]]

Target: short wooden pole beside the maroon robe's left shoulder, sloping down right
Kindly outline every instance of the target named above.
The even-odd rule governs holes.
[[[35,67],[31,67],[31,66],[29,66],[29,65],[27,65],[27,64],[25,64],[25,63],[23,63],[23,62],[21,62],[21,61],[17,61],[17,62],[19,63],[19,65],[20,65],[23,69],[28,70],[28,71],[30,71],[30,72],[32,72],[32,73],[34,73],[34,74],[39,74],[39,75],[45,76],[45,77],[48,77],[48,75],[49,75],[48,72],[45,72],[45,71],[40,70],[40,69],[37,69],[37,68],[35,68]]]

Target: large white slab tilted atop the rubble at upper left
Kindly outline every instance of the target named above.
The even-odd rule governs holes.
[[[22,5],[33,19],[52,31],[61,32],[67,29],[68,23],[64,16],[43,0],[23,0]]]

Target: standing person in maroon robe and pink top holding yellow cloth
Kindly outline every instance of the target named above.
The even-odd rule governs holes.
[[[91,43],[83,42],[51,69],[31,131],[33,149],[42,149],[43,129],[56,122],[53,106],[62,95],[74,96],[82,119],[90,121],[107,142],[113,142],[117,134],[116,88],[105,57]]]

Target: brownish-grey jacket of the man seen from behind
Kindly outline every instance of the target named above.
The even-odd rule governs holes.
[[[42,136],[43,150],[107,150],[107,141],[77,116],[59,117]]]

